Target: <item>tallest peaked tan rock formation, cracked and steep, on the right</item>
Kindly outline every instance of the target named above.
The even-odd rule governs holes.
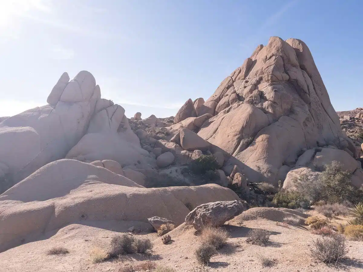
[[[232,155],[226,173],[238,165],[254,182],[277,185],[279,170],[293,167],[306,149],[334,145],[355,152],[309,48],[297,39],[272,37],[258,46],[198,105],[198,115],[206,113],[213,117],[197,134]]]

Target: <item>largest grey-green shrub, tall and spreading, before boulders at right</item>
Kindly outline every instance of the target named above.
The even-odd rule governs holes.
[[[359,202],[363,198],[363,190],[350,184],[351,173],[344,171],[342,164],[337,161],[326,165],[318,180],[301,175],[294,180],[297,191],[311,202],[326,201],[327,203]]]

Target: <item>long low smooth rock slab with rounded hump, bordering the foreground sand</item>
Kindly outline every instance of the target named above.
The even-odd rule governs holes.
[[[0,235],[0,251],[28,235],[86,219],[147,222],[159,216],[181,224],[189,213],[186,203],[235,199],[232,190],[219,185],[144,188],[106,168],[58,160],[0,195],[0,233],[6,234]]]

